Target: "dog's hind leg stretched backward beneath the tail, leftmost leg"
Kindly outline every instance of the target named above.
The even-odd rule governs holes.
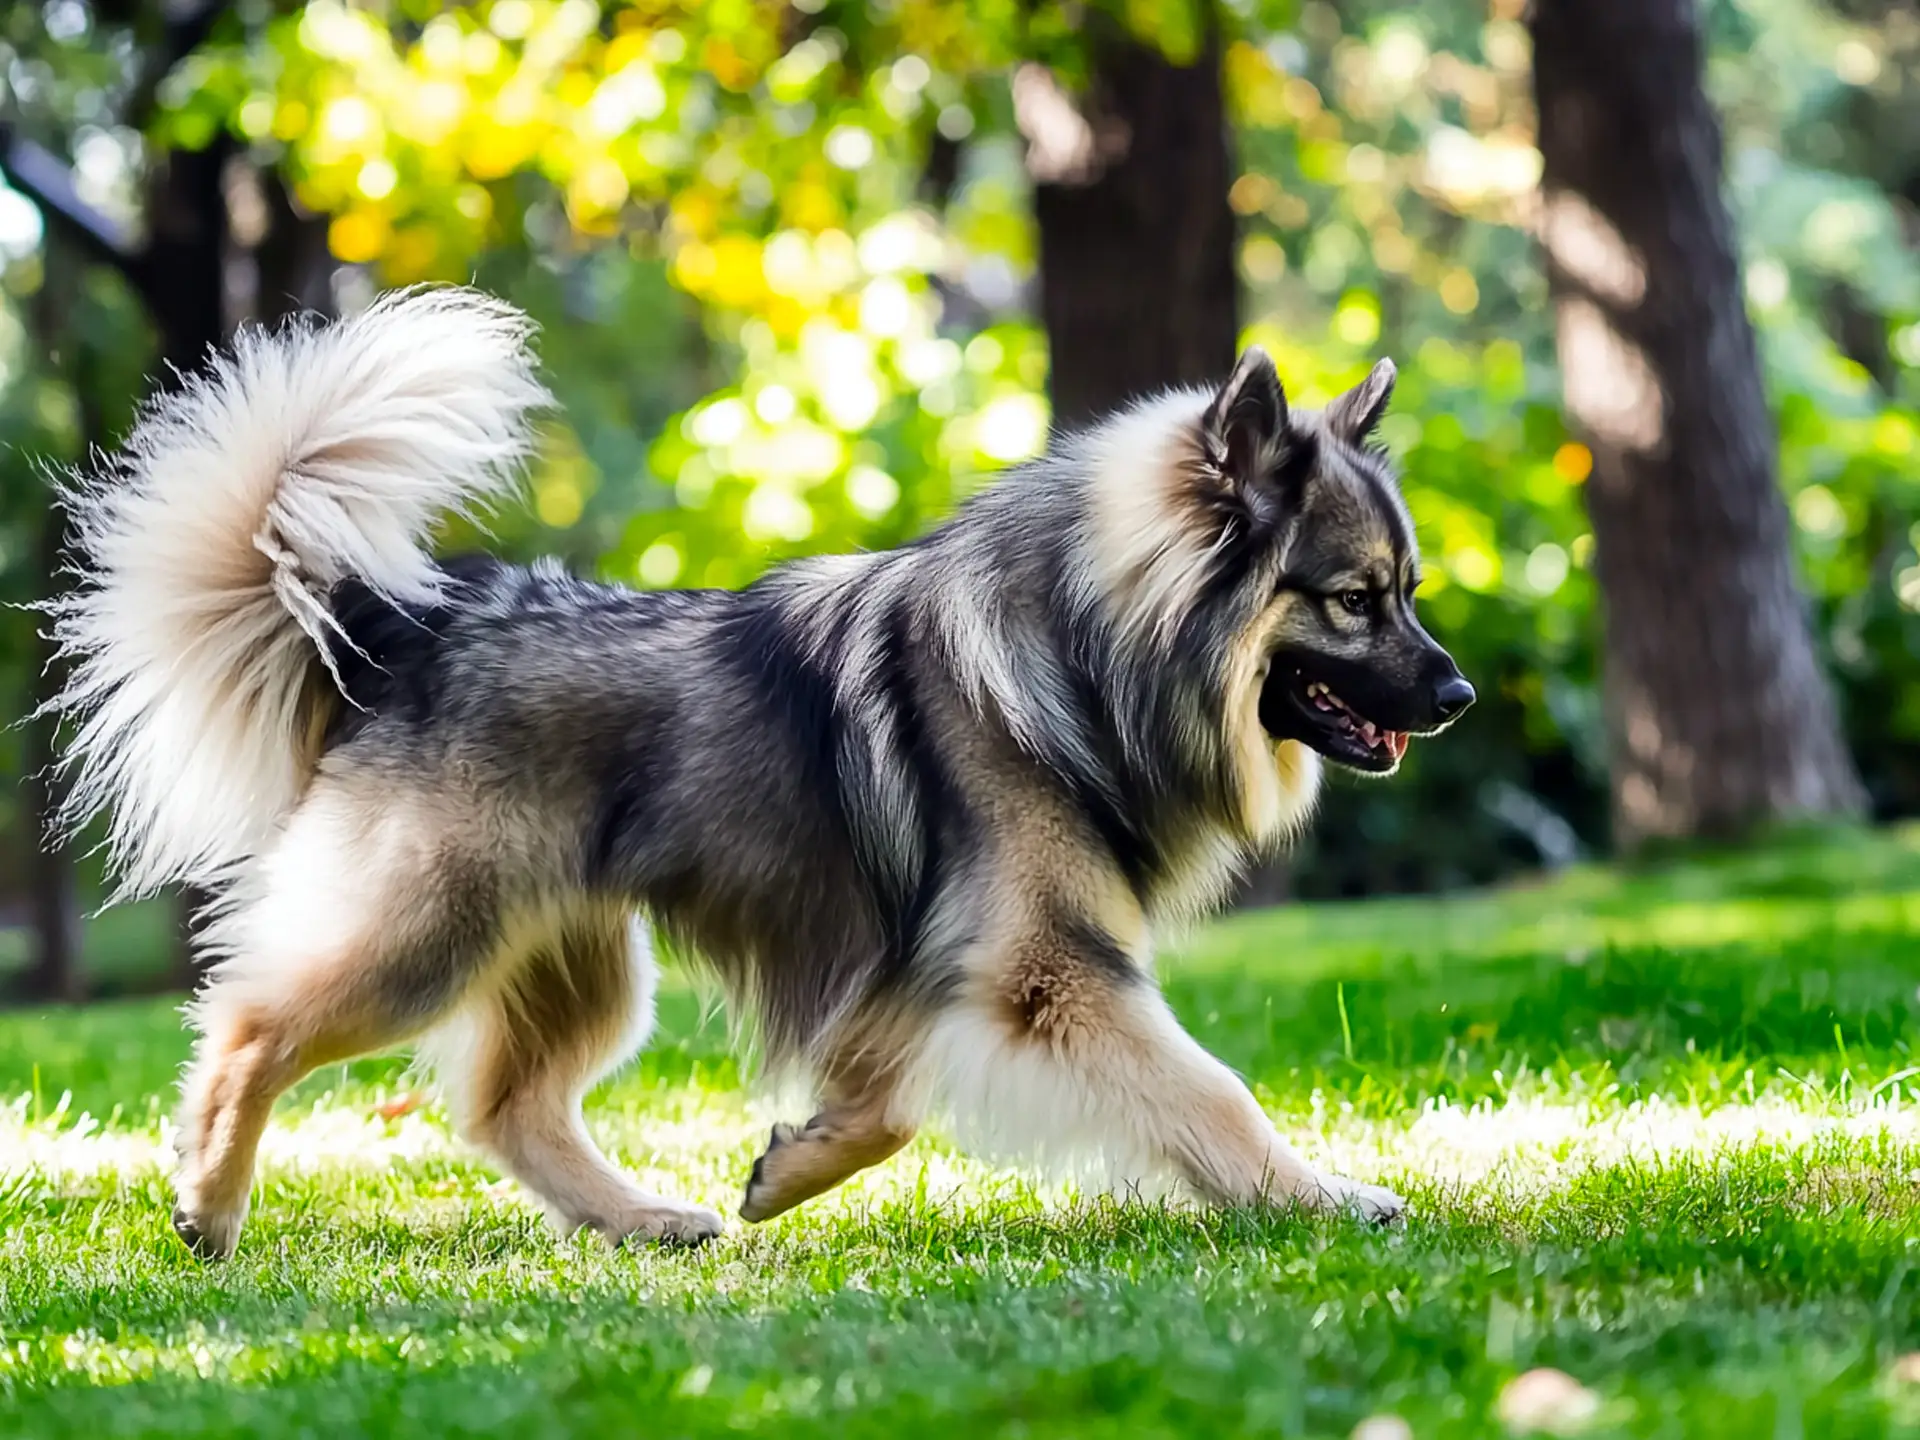
[[[294,816],[207,931],[219,956],[180,1087],[175,1229],[232,1254],[273,1102],[311,1069],[399,1044],[449,1010],[492,952],[492,876],[405,812],[338,797]]]

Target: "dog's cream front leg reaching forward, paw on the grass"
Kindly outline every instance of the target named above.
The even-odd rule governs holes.
[[[1171,1167],[1215,1204],[1294,1202],[1377,1223],[1404,1208],[1302,1160],[1152,977],[1085,935],[1035,937],[975,966],[925,1062],[929,1087],[1010,1150],[1100,1148],[1142,1171]]]

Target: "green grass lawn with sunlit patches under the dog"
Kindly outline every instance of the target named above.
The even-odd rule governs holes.
[[[171,1004],[0,1016],[0,1432],[1425,1438],[1528,1400],[1584,1434],[1920,1432],[1920,831],[1240,916],[1167,985],[1402,1231],[1081,1200],[925,1139],[612,1254],[436,1110],[386,1117],[372,1062],[284,1102],[205,1269],[159,1169]],[[772,1114],[689,989],[591,1110],[722,1212]],[[1578,1386],[1509,1388],[1536,1367]]]

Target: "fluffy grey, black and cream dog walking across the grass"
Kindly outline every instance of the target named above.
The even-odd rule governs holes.
[[[509,305],[413,290],[244,336],[71,484],[52,603],[67,820],[106,816],[123,895],[215,897],[180,1236],[232,1252],[288,1085],[409,1043],[561,1229],[718,1235],[582,1119],[651,1029],[649,927],[818,1096],[749,1221],[935,1114],[998,1156],[1394,1219],[1286,1144],[1152,968],[1306,820],[1321,758],[1390,774],[1473,701],[1369,444],[1392,384],[1380,361],[1302,413],[1252,349],[900,549],[634,593],[430,557],[549,403]]]

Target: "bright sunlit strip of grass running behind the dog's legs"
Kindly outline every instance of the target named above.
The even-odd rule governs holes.
[[[1538,1202],[1609,1169],[1645,1175],[1663,1165],[1732,1165],[1755,1152],[1791,1160],[1826,1154],[1834,1144],[1897,1152],[1901,1167],[1887,1179],[1920,1187],[1916,1075],[1920,1068],[1880,1079],[1849,1077],[1837,1089],[1789,1075],[1755,1085],[1749,1075],[1747,1098],[1722,1102],[1668,1094],[1622,1100],[1613,1085],[1536,1079],[1505,1098],[1461,1104],[1428,1096],[1400,1114],[1356,1108],[1340,1092],[1315,1091],[1283,1096],[1283,1104],[1296,1104],[1288,1106],[1294,1114],[1281,1114],[1279,1125],[1309,1160],[1329,1169],[1501,1204]],[[655,1091],[643,1108],[589,1110],[589,1121],[641,1185],[730,1212],[776,1114],[785,1112],[689,1085]],[[169,1146],[165,1123],[157,1129],[109,1127],[92,1116],[60,1112],[35,1121],[25,1096],[0,1108],[0,1179],[35,1175],[60,1188],[88,1190],[100,1181],[161,1175]],[[371,1098],[326,1098],[278,1116],[267,1131],[261,1210],[271,1212],[282,1185],[369,1173],[403,1185],[411,1175],[424,1196],[432,1177],[447,1165],[472,1171],[490,1198],[515,1190],[511,1183],[488,1179],[486,1158],[449,1131],[438,1108],[388,1119]],[[972,1210],[1014,1200],[1020,1208],[1071,1212],[1102,1192],[1110,1190],[972,1160],[935,1129],[895,1160],[810,1202],[799,1215],[808,1229],[831,1231],[847,1217],[927,1204]],[[1131,1192],[1121,1188],[1117,1194],[1127,1198]]]

